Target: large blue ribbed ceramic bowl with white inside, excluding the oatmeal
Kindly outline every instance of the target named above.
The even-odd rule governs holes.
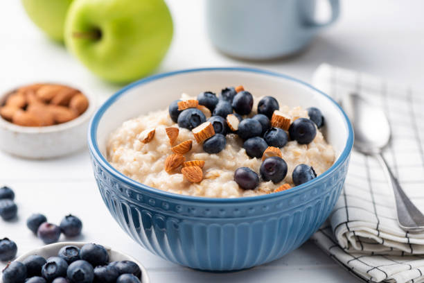
[[[197,95],[244,85],[256,95],[324,112],[324,135],[337,160],[318,178],[288,191],[246,198],[181,196],[127,178],[105,158],[107,137],[121,123],[168,107],[182,92]],[[233,271],[278,259],[301,246],[330,214],[342,190],[353,145],[346,114],[314,87],[270,71],[209,68],[151,76],[121,89],[89,127],[94,175],[110,213],[143,248],[183,266]]]

